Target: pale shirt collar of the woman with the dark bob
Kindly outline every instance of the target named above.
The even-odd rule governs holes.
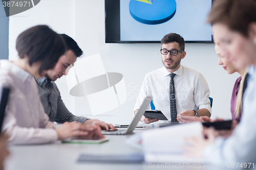
[[[28,79],[32,78],[29,72],[25,71],[24,69],[16,66],[13,62],[9,60],[1,60],[0,61],[1,68],[8,69],[14,74],[18,79],[20,79],[23,83]]]

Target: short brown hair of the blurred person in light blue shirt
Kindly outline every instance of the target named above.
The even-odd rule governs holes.
[[[256,21],[255,0],[216,0],[207,19],[212,25],[223,23],[230,30],[248,36],[248,27]]]

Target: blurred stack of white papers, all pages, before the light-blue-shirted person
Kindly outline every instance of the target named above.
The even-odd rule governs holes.
[[[133,142],[130,141],[130,145],[137,144],[138,147],[139,139],[142,139],[140,147],[143,148],[146,162],[187,162],[187,163],[202,163],[202,158],[191,158],[184,156],[182,149],[183,145],[186,144],[185,138],[198,136],[202,137],[203,126],[200,122],[187,123],[173,125],[164,128],[157,128],[152,130],[146,130],[139,136],[134,136]],[[137,139],[137,140],[135,140]],[[133,143],[133,144],[132,144]]]

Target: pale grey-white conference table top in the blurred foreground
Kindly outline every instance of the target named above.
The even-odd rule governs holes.
[[[123,128],[121,128],[123,129]],[[78,163],[80,154],[124,155],[142,153],[142,150],[127,145],[125,140],[144,128],[136,128],[128,135],[106,135],[109,141],[100,144],[61,143],[34,145],[11,145],[11,155],[6,161],[6,170],[48,169],[152,169],[148,163]],[[193,168],[195,169],[195,168]],[[200,168],[202,169],[202,168]]]

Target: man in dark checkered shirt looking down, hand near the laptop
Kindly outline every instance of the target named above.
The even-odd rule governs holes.
[[[53,69],[44,71],[42,73],[44,77],[41,79],[35,78],[39,97],[42,105],[45,108],[46,114],[49,116],[49,120],[58,124],[76,121],[83,125],[98,126],[101,127],[101,129],[106,130],[116,130],[113,125],[106,124],[100,120],[75,116],[74,114],[70,113],[70,111],[66,108],[65,104],[61,100],[59,89],[54,81],[66,74],[66,68],[73,64],[77,57],[82,55],[82,50],[79,48],[73,38],[66,34],[60,34],[60,36],[66,42],[66,54],[59,58]]]

